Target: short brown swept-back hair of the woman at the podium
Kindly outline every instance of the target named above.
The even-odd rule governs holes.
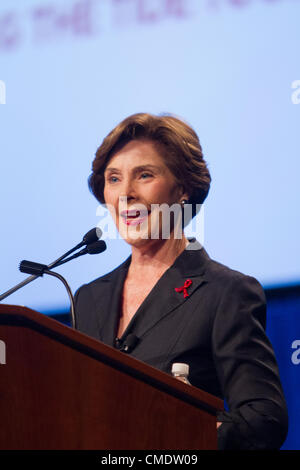
[[[137,113],[124,119],[103,140],[96,152],[89,188],[104,204],[104,171],[112,156],[131,140],[150,140],[160,150],[168,168],[189,194],[189,204],[202,204],[209,192],[211,177],[196,132],[172,115]]]

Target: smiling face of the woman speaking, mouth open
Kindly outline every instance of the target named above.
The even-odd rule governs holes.
[[[181,213],[180,202],[188,196],[151,141],[126,144],[111,158],[104,177],[105,204],[122,238],[134,246],[170,238],[174,224],[171,218],[170,226],[169,207],[176,204]]]

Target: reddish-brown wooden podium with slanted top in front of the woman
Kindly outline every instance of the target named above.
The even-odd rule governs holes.
[[[43,314],[0,306],[0,449],[216,449],[221,409]]]

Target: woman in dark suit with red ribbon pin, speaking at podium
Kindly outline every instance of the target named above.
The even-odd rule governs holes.
[[[135,114],[107,135],[89,185],[131,256],[77,290],[77,328],[166,373],[188,364],[191,384],[228,405],[219,449],[279,449],[287,410],[263,289],[184,235],[210,182],[196,133],[176,117]]]

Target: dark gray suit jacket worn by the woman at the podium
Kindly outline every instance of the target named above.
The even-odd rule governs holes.
[[[191,249],[192,248],[192,249]],[[77,328],[116,346],[129,257],[75,294]],[[176,292],[190,279],[188,296]],[[259,282],[212,260],[190,240],[122,335],[138,337],[131,356],[166,373],[190,366],[190,382],[224,398],[220,449],[276,449],[287,433],[287,409],[272,346],[265,334],[266,299]]]

